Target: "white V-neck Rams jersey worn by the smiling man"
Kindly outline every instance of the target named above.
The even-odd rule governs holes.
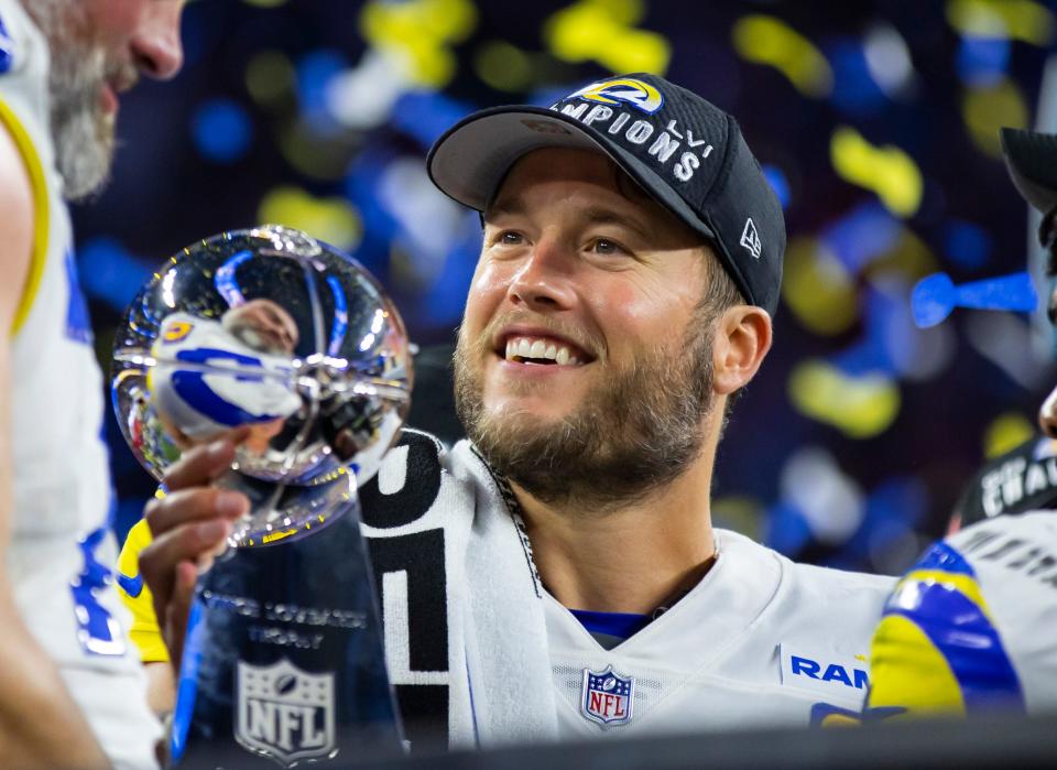
[[[716,543],[705,578],[612,650],[546,598],[560,737],[806,726],[859,709],[893,578],[794,564],[723,530]]]

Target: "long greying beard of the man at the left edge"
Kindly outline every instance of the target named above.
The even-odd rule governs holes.
[[[23,0],[48,41],[48,96],[55,163],[64,197],[80,200],[99,191],[113,160],[113,118],[99,102],[105,83],[120,72],[109,65],[89,31],[80,0]],[[128,66],[128,65],[126,65]],[[133,73],[123,73],[126,77]]]

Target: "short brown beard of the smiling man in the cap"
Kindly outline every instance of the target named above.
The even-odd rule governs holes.
[[[607,375],[559,423],[527,411],[489,412],[483,362],[493,322],[477,340],[459,330],[455,395],[467,435],[492,468],[547,503],[604,513],[647,497],[700,454],[711,409],[710,318],[698,312],[683,345],[642,351],[630,370]],[[546,366],[546,365],[544,365]]]

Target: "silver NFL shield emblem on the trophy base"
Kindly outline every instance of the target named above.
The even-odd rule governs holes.
[[[309,674],[287,660],[258,666],[239,661],[242,746],[292,767],[335,748],[334,674]]]

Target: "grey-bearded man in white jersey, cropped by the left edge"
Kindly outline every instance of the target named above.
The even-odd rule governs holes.
[[[182,0],[0,0],[0,767],[156,767],[116,619],[101,377],[65,199],[106,181],[118,94],[181,66]]]

